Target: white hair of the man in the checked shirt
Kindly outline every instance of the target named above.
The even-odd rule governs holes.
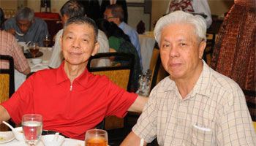
[[[206,41],[206,20],[200,15],[192,15],[183,11],[171,12],[168,15],[163,16],[157,21],[156,27],[154,28],[154,37],[158,44],[162,34],[162,29],[173,23],[187,23],[192,24],[195,27],[195,35]],[[160,44],[159,44],[160,45]]]

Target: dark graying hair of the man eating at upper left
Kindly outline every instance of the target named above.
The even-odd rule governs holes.
[[[34,11],[32,9],[29,9],[29,7],[20,7],[20,9],[18,9],[18,12],[16,12],[15,19],[29,20],[29,22],[31,22],[31,20],[34,19]]]

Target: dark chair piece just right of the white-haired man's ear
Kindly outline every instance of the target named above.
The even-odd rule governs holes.
[[[212,31],[206,32],[207,40],[206,40],[206,49],[204,50],[204,53],[203,53],[203,60],[205,60],[208,65],[211,64],[211,54],[213,53],[215,38],[216,38],[216,35],[214,32]]]

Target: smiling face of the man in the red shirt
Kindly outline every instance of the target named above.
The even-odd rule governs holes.
[[[91,55],[98,51],[94,29],[88,24],[72,23],[64,30],[60,38],[61,50],[65,61],[72,65],[87,64]]]

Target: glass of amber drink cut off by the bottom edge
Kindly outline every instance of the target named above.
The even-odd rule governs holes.
[[[101,129],[86,131],[86,146],[108,146],[108,133]]]

